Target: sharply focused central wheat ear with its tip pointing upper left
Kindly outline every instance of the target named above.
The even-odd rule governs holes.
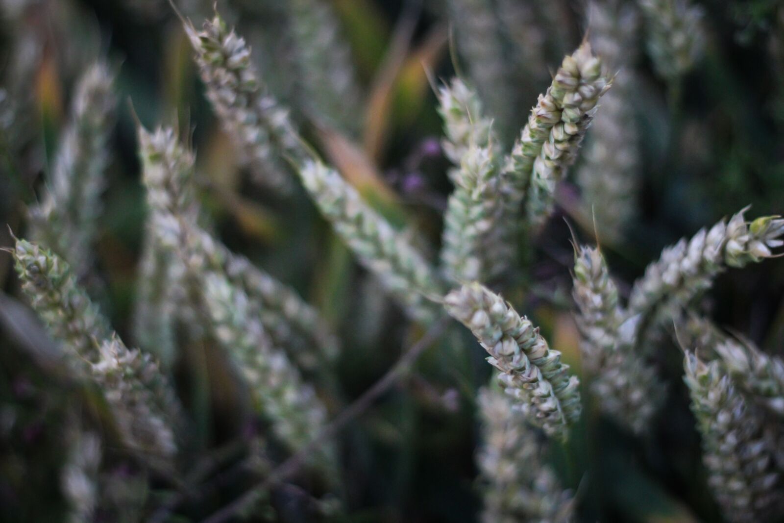
[[[548,347],[539,328],[478,283],[450,292],[445,307],[488,351],[506,394],[530,405],[532,419],[547,434],[565,439],[582,410],[579,380],[561,363],[561,353]]]

